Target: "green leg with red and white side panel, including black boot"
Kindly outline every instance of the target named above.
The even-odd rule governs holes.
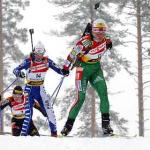
[[[82,67],[78,67],[76,70],[76,91],[77,91],[77,98],[72,103],[68,119],[64,125],[61,134],[66,136],[71,131],[74,121],[83,105],[85,100],[86,88],[87,88],[88,79],[86,74],[83,72]]]

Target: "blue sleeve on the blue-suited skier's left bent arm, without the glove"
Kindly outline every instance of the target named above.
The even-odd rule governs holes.
[[[21,70],[23,70],[23,69],[27,70],[29,67],[30,67],[30,60],[29,59],[25,59],[22,64],[20,64],[18,67],[16,67],[13,70],[13,73],[17,76],[18,73],[21,72]]]

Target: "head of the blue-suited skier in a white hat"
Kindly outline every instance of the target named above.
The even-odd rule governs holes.
[[[37,61],[42,60],[42,58],[45,54],[45,47],[40,41],[35,45],[35,47],[33,49],[33,54],[34,54],[35,60],[37,60]]]

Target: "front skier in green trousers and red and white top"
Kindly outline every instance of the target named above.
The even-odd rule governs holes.
[[[83,36],[68,55],[64,69],[76,66],[77,99],[72,104],[68,119],[61,134],[66,136],[71,131],[75,118],[85,100],[87,84],[90,82],[100,97],[103,134],[112,134],[109,118],[109,100],[107,86],[100,66],[101,56],[112,48],[111,39],[106,36],[107,25],[104,20],[97,19],[91,25],[91,34]],[[76,62],[76,63],[75,63]]]

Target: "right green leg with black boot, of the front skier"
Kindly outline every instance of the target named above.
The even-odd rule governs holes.
[[[109,118],[109,100],[107,93],[107,86],[103,76],[102,70],[99,70],[93,74],[90,78],[91,85],[96,89],[100,97],[100,111],[102,114],[102,130],[104,134],[112,134],[113,130],[110,127]]]

